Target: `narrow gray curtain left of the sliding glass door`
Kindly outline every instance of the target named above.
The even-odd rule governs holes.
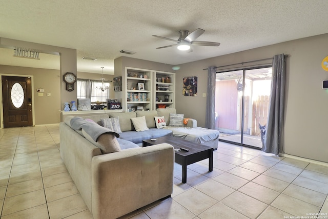
[[[209,129],[215,129],[215,76],[216,68],[209,67],[205,120],[205,127]]]

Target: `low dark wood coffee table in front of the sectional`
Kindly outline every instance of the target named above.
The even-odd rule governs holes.
[[[174,153],[175,163],[182,165],[182,183],[187,183],[187,165],[209,158],[209,172],[213,171],[213,147],[189,142],[180,137],[165,136],[156,138],[156,141],[144,140],[142,147],[168,143],[174,149],[187,148],[189,151],[178,151]]]

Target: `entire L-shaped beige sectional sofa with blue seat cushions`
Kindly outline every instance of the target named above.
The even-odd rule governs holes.
[[[172,194],[173,146],[142,148],[142,140],[175,135],[217,148],[218,131],[197,127],[191,118],[170,126],[170,113],[175,109],[67,116],[60,123],[60,155],[95,219],[117,218]],[[155,116],[167,126],[156,128]],[[118,121],[110,124],[118,134],[101,126],[109,118]],[[136,131],[140,121],[145,130]]]

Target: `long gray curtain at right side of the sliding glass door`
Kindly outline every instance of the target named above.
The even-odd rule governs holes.
[[[276,155],[279,154],[279,149],[282,149],[283,144],[285,75],[284,54],[275,55],[272,62],[268,123],[262,151]]]

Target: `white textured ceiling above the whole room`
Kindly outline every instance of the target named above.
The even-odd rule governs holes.
[[[113,74],[113,60],[122,55],[178,65],[328,32],[326,0],[0,0],[0,3],[0,37],[76,49],[77,71],[93,73],[101,73],[100,66],[105,66],[104,73]],[[197,28],[205,30],[198,41],[221,45],[194,46],[191,53],[176,47],[155,49],[172,42],[152,35],[178,39],[177,31]],[[122,49],[136,53],[119,53]],[[58,57],[40,54],[40,61],[31,61],[13,58],[12,50],[7,50],[0,50],[0,64],[48,65],[59,69]],[[83,56],[95,57],[97,61],[83,60]]]

